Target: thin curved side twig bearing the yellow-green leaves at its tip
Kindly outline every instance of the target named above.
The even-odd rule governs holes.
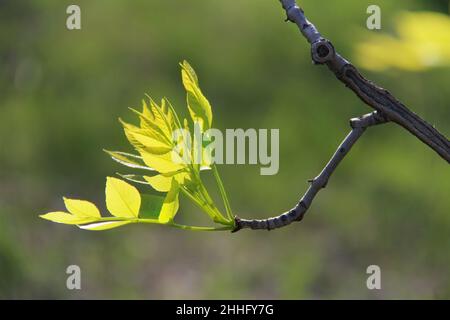
[[[311,206],[317,193],[326,187],[328,180],[330,179],[337,166],[341,163],[344,157],[349,153],[353,145],[362,136],[364,131],[370,126],[375,126],[381,123],[385,123],[388,120],[382,116],[378,111],[374,111],[370,114],[364,115],[360,118],[354,118],[350,120],[352,131],[347,135],[341,145],[334,153],[331,160],[322,170],[322,172],[312,179],[309,189],[301,198],[299,203],[291,210],[282,215],[274,218],[263,220],[245,220],[236,217],[236,228],[234,232],[241,229],[249,228],[253,230],[273,230],[281,227],[285,227],[294,221],[301,221],[306,211]]]

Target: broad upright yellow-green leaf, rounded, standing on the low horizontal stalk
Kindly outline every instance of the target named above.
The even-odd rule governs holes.
[[[132,185],[123,180],[108,177],[106,180],[106,207],[113,216],[137,218],[141,206],[141,195]]]

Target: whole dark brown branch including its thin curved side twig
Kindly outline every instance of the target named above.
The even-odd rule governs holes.
[[[233,232],[246,228],[272,230],[287,226],[294,221],[301,221],[317,193],[326,187],[337,166],[370,126],[388,121],[395,122],[450,163],[450,141],[443,134],[410,111],[387,90],[365,79],[355,66],[335,51],[333,44],[329,40],[322,37],[317,28],[305,17],[303,10],[297,6],[295,0],[280,0],[280,2],[286,10],[286,21],[295,23],[306,40],[311,44],[311,54],[314,63],[326,64],[337,79],[376,111],[350,120],[352,131],[338,147],[336,153],[322,172],[310,181],[309,189],[293,209],[278,217],[263,220],[246,220],[236,217],[236,228]]]

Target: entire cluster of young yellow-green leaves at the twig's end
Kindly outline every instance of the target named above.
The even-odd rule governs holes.
[[[187,103],[194,124],[200,125],[204,132],[212,124],[211,106],[203,95],[194,69],[184,61],[182,67],[183,85],[187,91]],[[211,169],[209,157],[200,160],[201,152],[193,154],[192,137],[189,134],[175,137],[175,129],[185,129],[190,133],[188,122],[180,122],[175,109],[167,99],[162,99],[158,106],[150,97],[147,104],[143,101],[139,116],[140,126],[123,122],[124,131],[129,142],[140,155],[124,152],[106,151],[113,160],[134,169],[156,171],[154,176],[123,175],[126,180],[151,185],[165,195],[143,195],[132,185],[123,180],[108,177],[106,181],[106,206],[116,218],[102,218],[97,207],[84,200],[66,199],[64,202],[69,212],[50,212],[41,217],[47,220],[76,224],[86,230],[108,230],[129,223],[168,224],[189,230],[216,230],[174,224],[174,217],[179,209],[179,193],[184,194],[201,207],[215,222],[229,225],[214,206],[201,179],[200,170]],[[196,128],[196,130],[198,130]],[[199,150],[206,153],[207,145],[194,142]],[[179,150],[178,150],[178,147]],[[195,149],[195,148],[194,148]],[[219,230],[219,229],[217,229]]]

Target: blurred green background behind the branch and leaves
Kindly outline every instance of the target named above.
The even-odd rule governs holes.
[[[311,64],[276,0],[75,2],[80,31],[65,27],[72,1],[0,1],[0,298],[450,298],[449,166],[393,124],[370,129],[305,220],[279,231],[95,233],[39,219],[63,209],[63,195],[104,201],[105,176],[123,168],[102,148],[131,151],[117,118],[131,120],[127,108],[145,93],[186,114],[183,59],[199,74],[215,126],[280,128],[278,175],[221,167],[233,209],[246,218],[294,206],[348,119],[370,111]],[[351,60],[359,42],[393,33],[399,12],[449,8],[300,2]],[[382,8],[381,31],[365,28],[369,4]],[[363,71],[450,135],[449,66]],[[182,203],[181,219],[197,214]],[[81,267],[80,291],[66,289],[71,264]],[[382,270],[380,291],[366,288],[372,264]]]

